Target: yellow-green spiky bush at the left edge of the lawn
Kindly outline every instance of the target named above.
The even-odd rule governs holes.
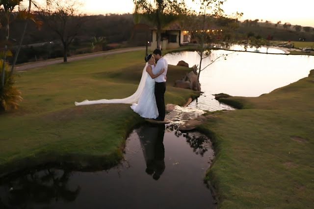
[[[2,72],[3,61],[0,62],[0,73]],[[21,92],[14,86],[15,74],[10,76],[9,66],[5,66],[4,86],[0,87],[0,109],[10,111],[17,109],[18,102],[22,101]]]

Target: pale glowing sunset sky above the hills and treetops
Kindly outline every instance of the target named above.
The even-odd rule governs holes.
[[[192,0],[185,0],[185,2],[190,7],[198,8]],[[84,10],[87,14],[123,14],[132,13],[133,7],[132,0],[85,0]],[[263,22],[281,21],[292,25],[314,27],[313,8],[314,0],[293,1],[293,3],[290,0],[227,0],[223,5],[226,14],[243,12],[241,21],[259,19]]]

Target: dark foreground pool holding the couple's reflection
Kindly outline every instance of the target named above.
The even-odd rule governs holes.
[[[125,159],[109,170],[57,168],[0,180],[0,208],[215,208],[204,182],[214,153],[199,133],[145,124],[127,139]]]

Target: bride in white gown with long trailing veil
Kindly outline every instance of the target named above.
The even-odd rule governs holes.
[[[152,54],[145,56],[146,65],[142,72],[142,78],[135,93],[123,99],[100,99],[100,100],[84,100],[82,102],[75,102],[75,105],[89,105],[89,104],[110,104],[110,103],[124,103],[132,104],[132,110],[145,118],[157,118],[158,110],[155,98],[155,80],[154,78],[161,75],[165,69],[162,69],[157,75],[153,74],[155,68],[155,57]],[[162,75],[164,76],[164,75]],[[137,103],[136,103],[137,102]]]

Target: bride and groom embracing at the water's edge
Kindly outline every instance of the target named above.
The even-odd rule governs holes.
[[[157,64],[155,63],[157,60]],[[161,50],[155,49],[153,54],[145,56],[146,65],[141,81],[135,93],[123,99],[84,100],[75,105],[89,104],[132,104],[132,110],[141,117],[163,121],[166,115],[164,93],[166,91],[166,74],[168,63],[162,57]]]

